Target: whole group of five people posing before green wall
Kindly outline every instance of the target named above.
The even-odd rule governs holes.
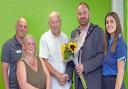
[[[79,26],[83,38],[79,64],[65,63],[61,44],[69,41],[61,31],[59,12],[49,15],[49,30],[39,41],[39,56],[32,35],[27,34],[27,20],[19,18],[16,34],[2,48],[2,73],[5,89],[84,89],[79,75],[83,73],[87,89],[125,89],[123,76],[127,47],[121,24],[115,12],[105,17],[105,32],[90,22],[89,6],[82,2],[77,7]]]

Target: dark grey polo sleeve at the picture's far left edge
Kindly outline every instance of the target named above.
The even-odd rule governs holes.
[[[5,43],[2,48],[1,62],[9,63],[10,48],[8,43]]]

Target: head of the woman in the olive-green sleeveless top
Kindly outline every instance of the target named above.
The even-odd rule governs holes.
[[[27,55],[35,55],[36,44],[32,36],[25,36],[23,49]]]

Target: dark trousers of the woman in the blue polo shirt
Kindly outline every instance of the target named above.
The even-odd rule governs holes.
[[[116,76],[103,76],[102,89],[115,89]],[[121,89],[125,89],[124,82],[122,83]]]

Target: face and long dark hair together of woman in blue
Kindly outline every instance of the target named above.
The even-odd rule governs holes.
[[[113,38],[112,52],[115,51],[119,35],[122,36],[122,28],[118,14],[115,12],[109,12],[105,17],[105,40],[104,40],[105,53],[108,50],[108,46],[109,46],[108,41],[110,38]]]

